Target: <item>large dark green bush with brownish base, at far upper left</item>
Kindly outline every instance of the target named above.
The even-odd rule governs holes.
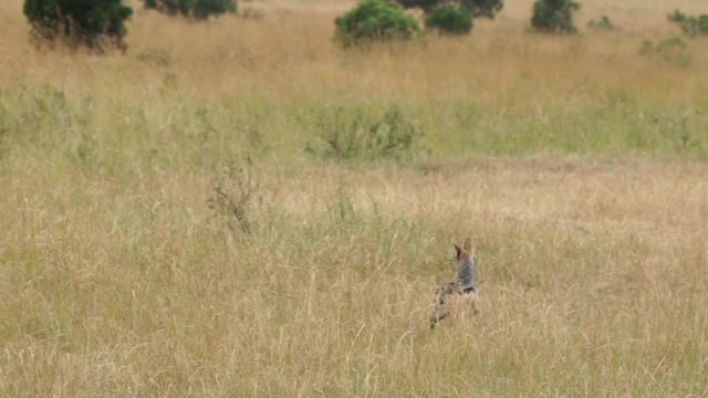
[[[23,12],[37,43],[62,40],[72,46],[103,50],[113,45],[125,50],[124,22],[133,9],[123,0],[25,0]]]

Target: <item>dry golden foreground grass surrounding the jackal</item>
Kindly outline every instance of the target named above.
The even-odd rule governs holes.
[[[250,237],[214,218],[204,176],[134,188],[6,176],[0,387],[702,395],[705,176],[587,160],[316,168],[259,179]],[[465,234],[480,248],[482,313],[430,333]]]

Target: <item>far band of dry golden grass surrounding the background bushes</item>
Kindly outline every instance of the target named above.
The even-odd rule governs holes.
[[[688,69],[637,56],[643,40],[678,33],[665,20],[667,9],[693,11],[696,2],[659,7],[636,1],[622,8],[597,3],[586,2],[577,24],[584,28],[586,20],[608,13],[624,28],[621,33],[585,30],[581,38],[561,39],[524,34],[528,0],[508,4],[496,21],[479,21],[468,38],[430,35],[425,44],[396,48],[393,53],[383,46],[373,54],[345,54],[331,41],[333,20],[350,2],[336,3],[334,10],[303,6],[308,2],[293,2],[299,7],[291,8],[244,3],[242,8],[264,10],[266,18],[260,22],[221,18],[207,25],[167,20],[134,4],[127,56],[75,56],[32,51],[20,1],[13,0],[0,6],[7,22],[0,28],[0,77],[3,82],[49,81],[72,93],[117,90],[139,97],[154,94],[164,74],[171,72],[180,88],[207,98],[257,91],[277,98],[346,93],[355,98],[420,102],[430,95],[458,98],[475,93],[482,104],[507,107],[510,100],[512,104],[524,101],[527,94],[552,96],[579,85],[590,94],[613,87],[678,98],[706,90],[706,80],[699,75],[708,61],[700,51],[702,41],[689,43],[696,51]],[[136,62],[154,52],[167,55],[166,66]],[[544,90],[539,92],[540,87]]]

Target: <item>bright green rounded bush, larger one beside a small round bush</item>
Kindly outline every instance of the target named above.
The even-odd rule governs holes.
[[[334,38],[344,48],[375,41],[406,40],[419,31],[412,15],[407,15],[400,6],[385,0],[362,0],[334,23]]]

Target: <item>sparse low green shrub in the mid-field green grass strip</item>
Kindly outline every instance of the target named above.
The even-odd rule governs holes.
[[[414,151],[421,136],[397,107],[383,115],[337,107],[319,114],[315,126],[321,142],[305,149],[336,160],[400,159]]]

